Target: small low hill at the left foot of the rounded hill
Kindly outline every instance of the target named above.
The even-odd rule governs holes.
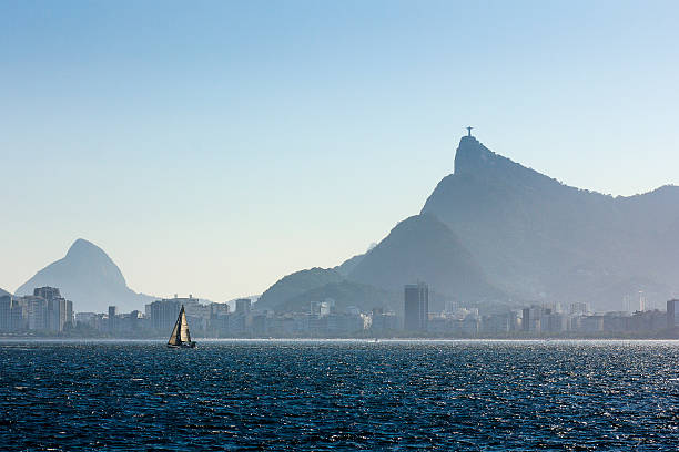
[[[342,274],[330,268],[311,268],[287,275],[276,281],[262,294],[255,307],[257,309],[274,309],[285,301],[304,294],[307,290],[325,286],[330,282],[340,282],[344,279]]]

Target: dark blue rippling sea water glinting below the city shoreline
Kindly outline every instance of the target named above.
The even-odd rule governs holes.
[[[0,342],[0,449],[679,450],[679,342]]]

